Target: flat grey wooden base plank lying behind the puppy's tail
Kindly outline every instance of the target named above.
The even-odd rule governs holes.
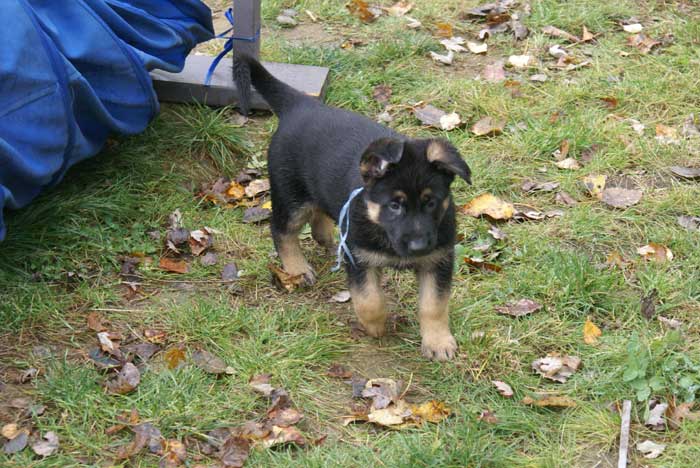
[[[163,70],[151,72],[153,87],[158,99],[163,102],[199,102],[213,107],[233,105],[238,102],[238,92],[233,83],[232,60],[219,62],[212,75],[209,87],[204,86],[204,77],[214,57],[190,55],[180,73]],[[328,82],[328,68],[311,65],[263,62],[265,68],[279,80],[310,96],[323,99]],[[251,96],[251,108],[269,109],[257,92]]]

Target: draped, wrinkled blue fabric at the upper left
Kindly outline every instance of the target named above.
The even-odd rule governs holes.
[[[199,0],[0,0],[0,240],[20,208],[158,113],[149,70],[213,37]]]

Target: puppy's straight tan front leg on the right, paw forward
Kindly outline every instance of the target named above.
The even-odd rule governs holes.
[[[452,359],[457,352],[457,342],[450,333],[448,314],[451,268],[450,262],[447,278],[444,269],[418,272],[421,348],[425,357],[438,361]]]

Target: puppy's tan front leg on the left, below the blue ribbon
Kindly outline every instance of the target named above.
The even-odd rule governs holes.
[[[371,336],[382,336],[386,331],[386,301],[381,287],[381,270],[368,268],[354,270],[350,275],[350,294],[355,314]]]

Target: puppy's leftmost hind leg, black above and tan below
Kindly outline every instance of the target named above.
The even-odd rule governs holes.
[[[311,206],[308,204],[294,206],[272,202],[272,239],[282,266],[290,275],[304,275],[309,286],[316,282],[316,273],[301,251],[299,231],[310,219]]]

